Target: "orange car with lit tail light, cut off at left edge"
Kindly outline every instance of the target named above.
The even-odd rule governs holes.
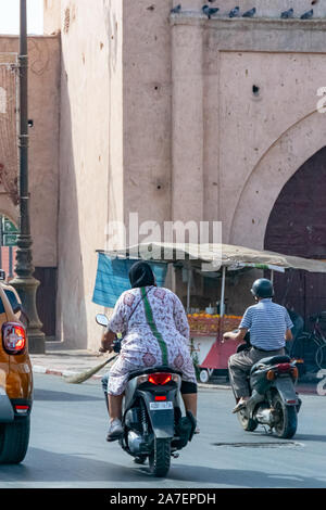
[[[0,463],[22,462],[29,442],[33,371],[23,317],[17,292],[0,281]]]

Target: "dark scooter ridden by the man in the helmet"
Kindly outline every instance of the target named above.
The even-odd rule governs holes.
[[[250,336],[237,352],[250,349]],[[251,396],[244,409],[237,415],[244,431],[252,432],[259,424],[268,425],[281,438],[291,438],[297,432],[301,399],[296,392],[299,371],[289,356],[266,357],[250,371],[248,384]]]

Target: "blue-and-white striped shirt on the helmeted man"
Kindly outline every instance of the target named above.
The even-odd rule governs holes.
[[[244,311],[239,328],[250,330],[250,343],[263,350],[277,350],[285,346],[285,334],[293,323],[284,306],[272,298],[261,299]]]

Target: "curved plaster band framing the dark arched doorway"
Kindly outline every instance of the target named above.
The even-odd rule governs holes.
[[[258,162],[235,208],[229,243],[262,250],[280,190],[326,142],[326,114],[312,112],[285,131]]]

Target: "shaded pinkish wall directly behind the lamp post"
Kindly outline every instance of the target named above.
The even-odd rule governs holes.
[[[0,36],[1,53],[17,53],[18,38]],[[59,190],[60,38],[28,38],[28,117],[30,229],[33,262],[38,267],[55,267]],[[18,174],[18,168],[17,168]],[[1,213],[16,224],[18,209],[5,197]]]

